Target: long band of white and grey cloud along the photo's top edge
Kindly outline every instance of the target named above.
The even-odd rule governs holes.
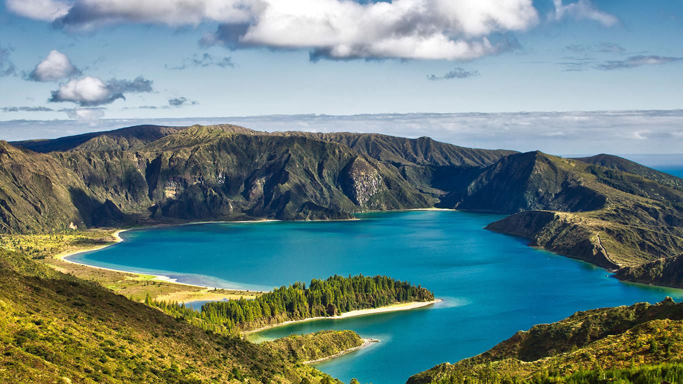
[[[31,0],[10,9],[46,20],[39,2],[58,9],[55,23],[66,29],[213,21],[221,26],[205,43],[311,49],[314,59],[474,59],[510,48],[493,34],[538,23],[532,0],[75,0],[66,14]]]

